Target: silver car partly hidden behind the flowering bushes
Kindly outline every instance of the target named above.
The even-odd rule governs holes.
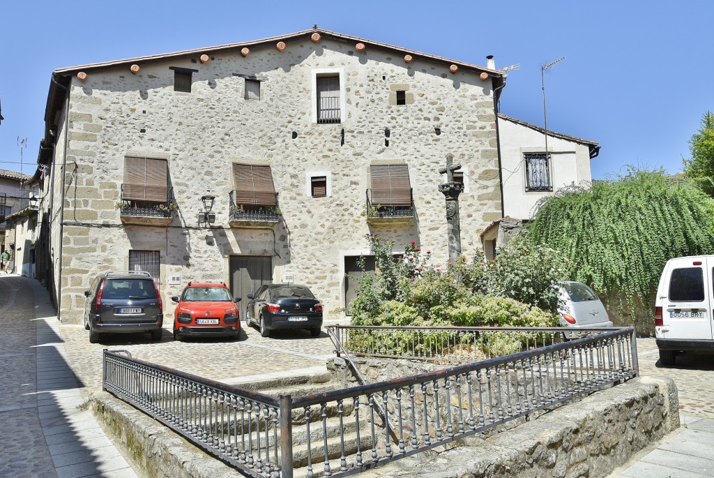
[[[573,329],[597,329],[613,327],[608,317],[608,311],[600,302],[598,294],[582,282],[560,281],[560,324]],[[568,334],[568,338],[579,337],[580,334]]]

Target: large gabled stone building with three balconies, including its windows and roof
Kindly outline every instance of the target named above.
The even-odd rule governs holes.
[[[308,285],[340,317],[366,234],[448,254],[438,168],[463,167],[464,254],[501,218],[503,72],[322,29],[58,69],[39,164],[49,278],[80,323],[91,277],[148,270],[238,297]],[[69,114],[68,114],[69,112]]]

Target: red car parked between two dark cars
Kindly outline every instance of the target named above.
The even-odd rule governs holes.
[[[174,312],[174,340],[183,337],[233,337],[241,332],[238,307],[223,282],[188,282]]]

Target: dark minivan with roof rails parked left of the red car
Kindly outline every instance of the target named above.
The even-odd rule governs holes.
[[[149,332],[161,340],[163,304],[149,272],[104,272],[84,297],[84,328],[92,344],[101,334],[122,332]]]

